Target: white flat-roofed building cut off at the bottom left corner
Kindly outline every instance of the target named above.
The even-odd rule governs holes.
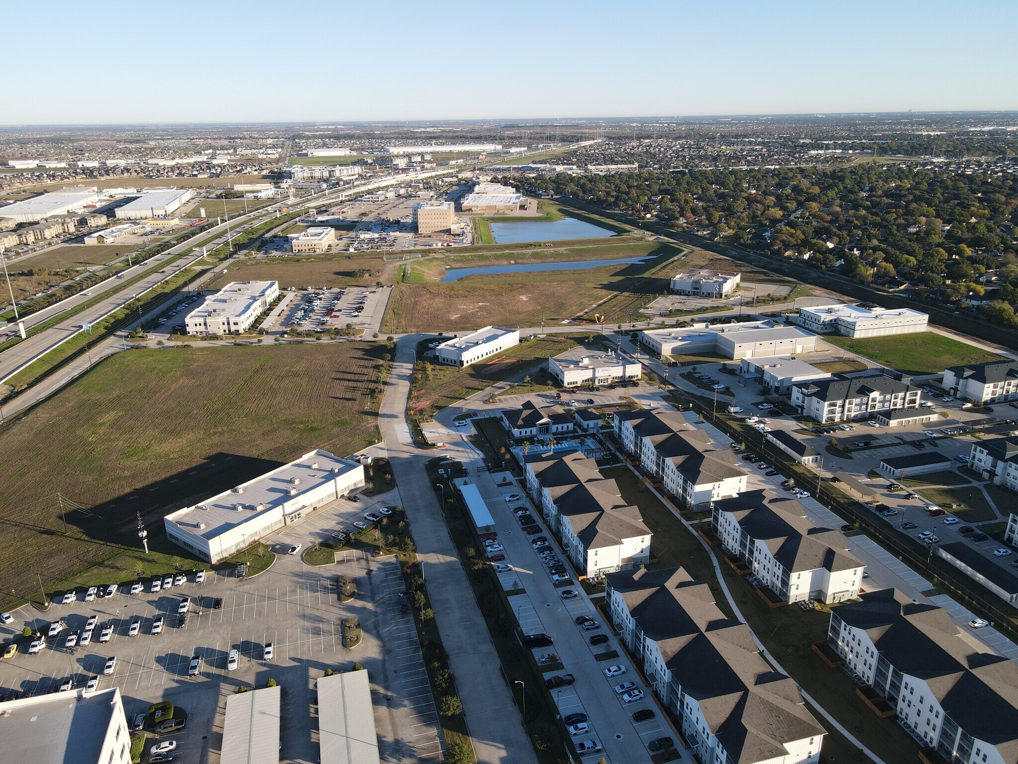
[[[0,703],[0,751],[8,762],[130,764],[120,691],[67,690]]]

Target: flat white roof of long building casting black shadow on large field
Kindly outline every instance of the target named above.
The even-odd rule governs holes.
[[[299,459],[242,483],[237,487],[240,489],[239,493],[237,488],[231,488],[193,506],[171,512],[166,515],[166,520],[186,526],[181,528],[186,533],[212,540],[237,526],[258,520],[279,504],[292,501],[300,494],[332,482],[340,475],[360,469],[360,465],[355,461],[316,449]],[[294,479],[297,483],[293,482]],[[290,495],[291,488],[297,489],[295,496]],[[239,510],[236,508],[237,504],[242,505]],[[197,523],[204,523],[205,528],[199,529]]]

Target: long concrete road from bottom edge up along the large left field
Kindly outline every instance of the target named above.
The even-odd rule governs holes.
[[[379,412],[382,438],[410,521],[410,535],[417,547],[435,620],[456,676],[477,764],[536,764],[516,703],[499,673],[498,653],[425,471],[425,462],[434,453],[413,444],[406,424],[417,339],[409,335],[396,343],[396,360]]]

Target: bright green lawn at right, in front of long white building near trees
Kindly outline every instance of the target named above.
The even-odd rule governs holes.
[[[825,336],[825,341],[906,374],[936,374],[949,366],[998,361],[1000,356],[937,332],[894,334],[890,337]]]

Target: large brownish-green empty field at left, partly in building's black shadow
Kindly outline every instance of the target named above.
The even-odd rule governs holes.
[[[375,442],[384,351],[183,347],[104,361],[0,434],[0,592],[26,595],[37,572],[48,586],[133,548],[135,512],[151,530],[172,506],[312,448]]]

